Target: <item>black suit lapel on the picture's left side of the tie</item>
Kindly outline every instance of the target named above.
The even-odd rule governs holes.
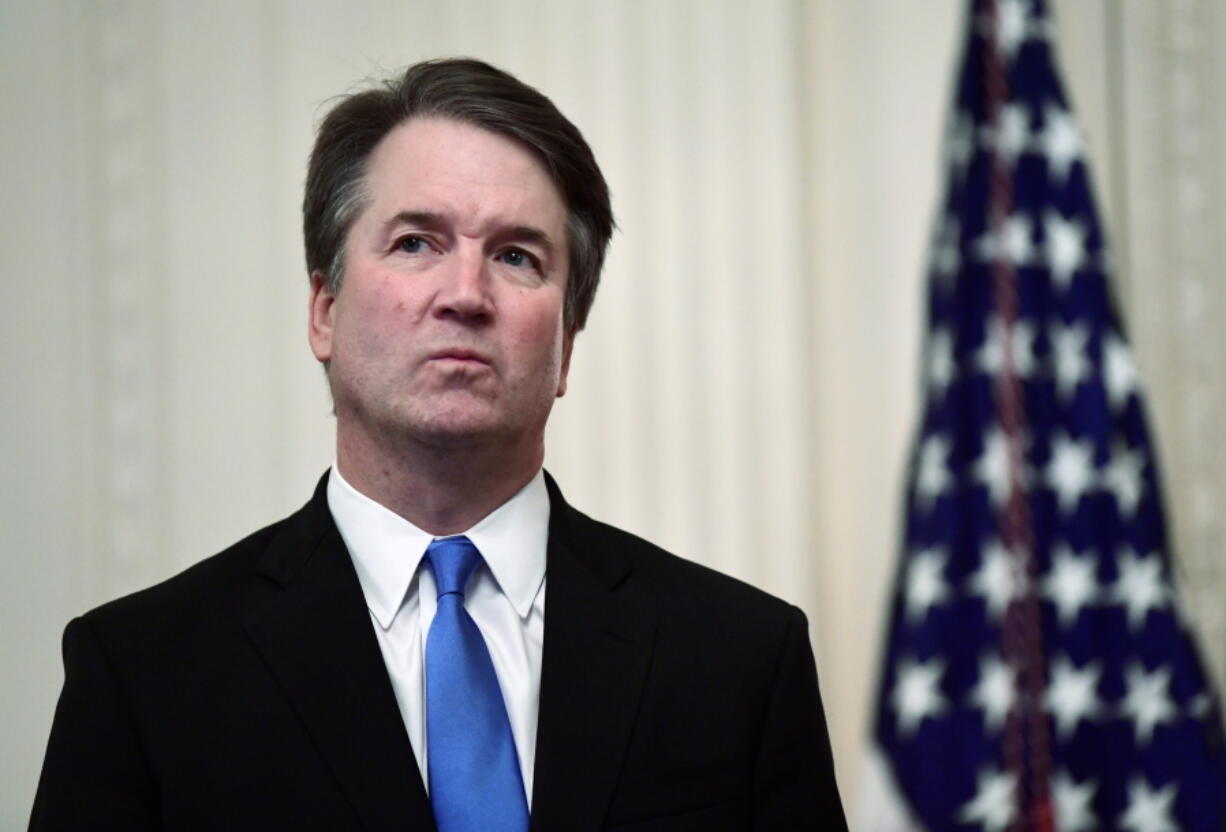
[[[278,589],[246,631],[369,830],[433,830],[362,587],[325,483],[259,565]]]

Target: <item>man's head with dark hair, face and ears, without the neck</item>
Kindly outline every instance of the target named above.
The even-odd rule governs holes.
[[[304,203],[338,459],[386,472],[411,448],[470,448],[512,479],[538,467],[611,229],[579,131],[499,70],[419,64],[338,104]]]

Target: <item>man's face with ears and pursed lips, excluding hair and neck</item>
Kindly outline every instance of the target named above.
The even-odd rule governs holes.
[[[542,441],[566,387],[566,208],[528,151],[446,119],[375,147],[340,292],[313,276],[310,343],[341,441]]]

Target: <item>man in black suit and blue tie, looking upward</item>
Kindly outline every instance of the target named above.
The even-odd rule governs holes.
[[[542,471],[612,228],[579,131],[485,64],[332,109],[304,235],[336,463],[69,625],[32,828],[845,828],[801,611]]]

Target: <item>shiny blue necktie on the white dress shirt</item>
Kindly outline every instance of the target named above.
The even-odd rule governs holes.
[[[430,806],[439,832],[526,832],[528,807],[503,691],[485,640],[463,608],[481,564],[466,537],[425,550],[439,607],[425,640]]]

